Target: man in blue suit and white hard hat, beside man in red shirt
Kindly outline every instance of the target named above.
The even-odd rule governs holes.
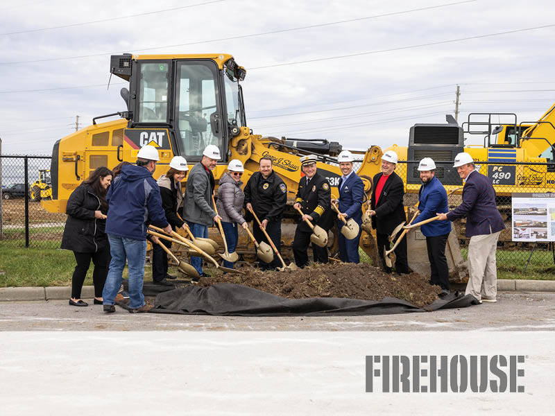
[[[337,214],[337,229],[339,230],[339,259],[344,263],[359,263],[359,241],[362,231],[362,202],[364,200],[364,184],[361,178],[352,170],[355,158],[349,150],[343,150],[337,157],[341,169],[339,181],[339,214]],[[338,200],[333,200],[336,203]],[[341,234],[343,220],[352,218],[359,225],[359,235],[348,240]]]

